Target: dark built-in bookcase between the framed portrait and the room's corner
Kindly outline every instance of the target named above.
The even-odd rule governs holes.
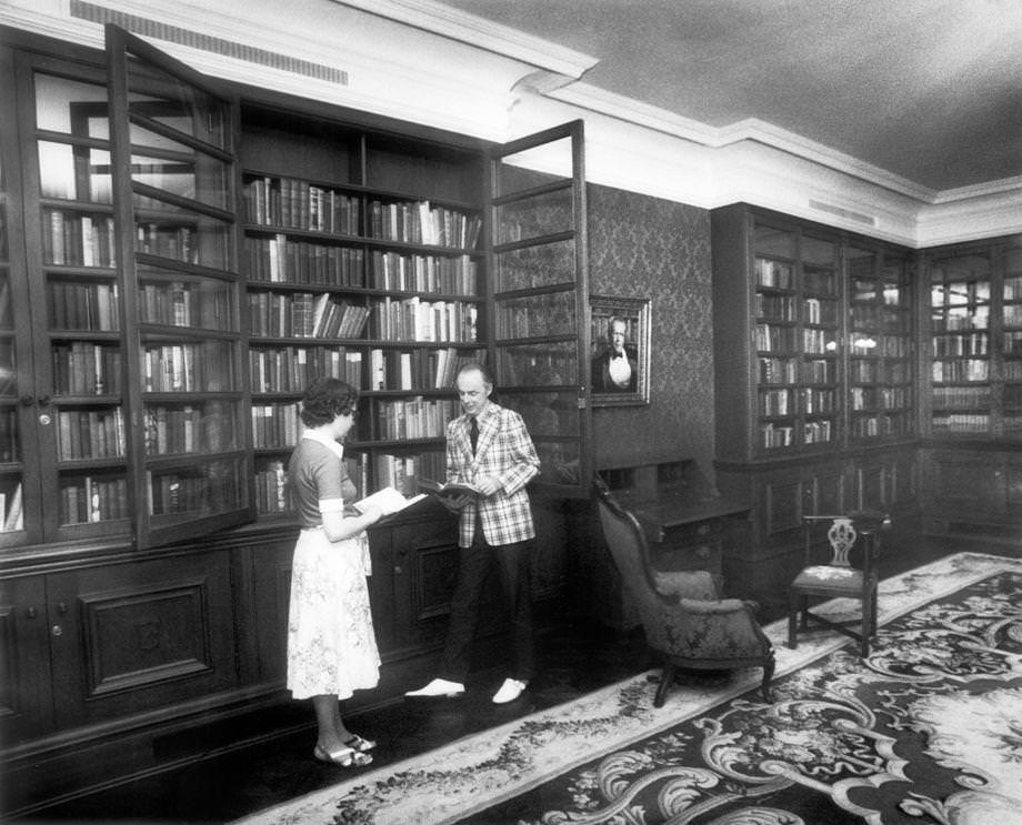
[[[915,506],[913,256],[742,203],[711,231],[717,480],[754,533],[724,575],[769,598],[803,514]]]

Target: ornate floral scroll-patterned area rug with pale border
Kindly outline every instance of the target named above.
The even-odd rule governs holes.
[[[1022,823],[1022,561],[948,556],[884,581],[880,613],[865,662],[770,625],[772,704],[755,670],[654,708],[643,674],[244,822]]]

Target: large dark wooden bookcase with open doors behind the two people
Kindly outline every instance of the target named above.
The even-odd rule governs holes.
[[[114,27],[102,52],[0,27],[0,69],[4,804],[158,771],[159,737],[282,700],[315,376],[360,389],[362,490],[411,492],[484,359],[554,494],[558,594],[557,496],[591,455],[581,122],[497,145],[216,82]],[[442,640],[457,520],[430,504],[370,531],[367,702]]]

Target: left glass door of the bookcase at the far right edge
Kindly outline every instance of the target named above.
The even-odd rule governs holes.
[[[930,427],[934,435],[992,434],[989,250],[930,264]]]

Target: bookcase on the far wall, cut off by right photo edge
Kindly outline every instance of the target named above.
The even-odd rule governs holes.
[[[928,530],[1022,531],[1022,238],[926,250]]]

